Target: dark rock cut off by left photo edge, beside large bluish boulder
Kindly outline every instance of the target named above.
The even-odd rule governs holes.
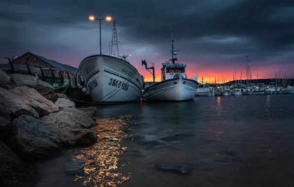
[[[6,108],[0,105],[0,140],[11,132],[10,116]]]

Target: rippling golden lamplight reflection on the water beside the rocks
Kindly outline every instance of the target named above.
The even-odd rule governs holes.
[[[127,149],[121,147],[122,139],[127,134],[122,130],[129,126],[131,116],[120,119],[98,119],[99,125],[92,128],[98,134],[98,141],[93,146],[81,150],[82,154],[74,159],[85,161],[84,173],[76,175],[75,181],[83,180],[83,185],[93,187],[116,187],[130,178],[130,173],[122,174],[117,171],[118,156]]]

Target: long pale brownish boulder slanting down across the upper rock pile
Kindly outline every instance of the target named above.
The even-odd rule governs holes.
[[[34,108],[39,116],[45,116],[59,111],[59,108],[53,102],[47,100],[33,88],[16,87],[9,91]]]

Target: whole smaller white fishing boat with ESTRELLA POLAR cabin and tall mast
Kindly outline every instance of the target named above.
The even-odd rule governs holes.
[[[142,99],[146,100],[167,100],[167,101],[185,101],[192,100],[195,97],[198,88],[198,82],[193,79],[186,78],[186,64],[175,63],[178,61],[177,51],[174,50],[174,34],[172,31],[172,63],[168,60],[162,62],[161,81],[154,83],[154,66],[147,67],[146,60],[142,60],[142,65],[146,69],[153,69],[153,84],[147,85]]]

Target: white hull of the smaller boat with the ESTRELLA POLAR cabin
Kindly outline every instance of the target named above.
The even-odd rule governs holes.
[[[150,85],[145,89],[142,99],[163,101],[192,100],[195,97],[197,88],[197,81],[178,77]]]

